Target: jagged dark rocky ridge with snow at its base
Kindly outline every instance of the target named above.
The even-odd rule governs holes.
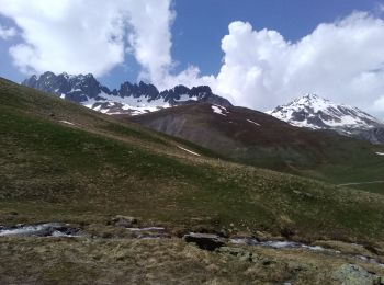
[[[153,84],[124,82],[120,89],[110,90],[92,75],[55,75],[50,71],[42,76],[32,76],[23,86],[49,92],[106,114],[138,115],[165,107],[205,102],[222,106],[231,105],[229,101],[212,93],[210,87],[189,89],[177,86],[159,92]]]

